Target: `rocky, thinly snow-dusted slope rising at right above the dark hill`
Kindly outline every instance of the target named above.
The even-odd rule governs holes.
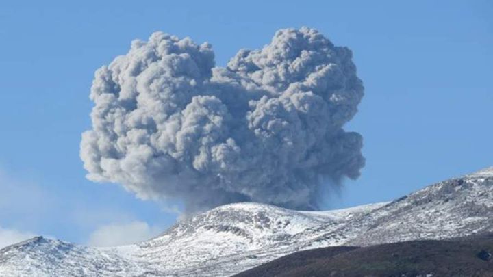
[[[436,183],[403,196],[336,230],[320,226],[310,246],[331,245],[331,237],[359,230],[346,245],[445,239],[493,231],[493,168]]]

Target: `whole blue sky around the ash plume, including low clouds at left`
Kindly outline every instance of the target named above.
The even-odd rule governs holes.
[[[331,208],[493,165],[492,1],[210,2],[0,2],[0,237],[125,243],[175,222],[165,205],[88,181],[79,158],[94,70],[153,31],[210,42],[220,66],[285,27],[351,48],[366,95],[346,129],[364,136],[366,167]]]

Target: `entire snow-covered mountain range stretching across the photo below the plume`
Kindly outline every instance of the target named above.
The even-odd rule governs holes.
[[[491,231],[493,168],[488,168],[393,202],[350,209],[225,205],[130,246],[88,248],[35,237],[0,250],[0,276],[229,276],[310,248]]]

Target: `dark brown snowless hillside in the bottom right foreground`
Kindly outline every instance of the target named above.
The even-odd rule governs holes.
[[[493,233],[446,241],[336,246],[296,252],[236,277],[493,276]]]

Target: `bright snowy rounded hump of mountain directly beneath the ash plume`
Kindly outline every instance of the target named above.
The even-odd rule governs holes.
[[[328,222],[344,224],[382,205],[326,212],[291,211],[257,203],[225,205],[180,222],[160,237],[138,244],[133,255],[140,261],[167,261],[168,264],[157,268],[162,275],[233,274],[239,268],[246,269],[298,250],[298,243],[309,239],[299,237],[304,230]]]

